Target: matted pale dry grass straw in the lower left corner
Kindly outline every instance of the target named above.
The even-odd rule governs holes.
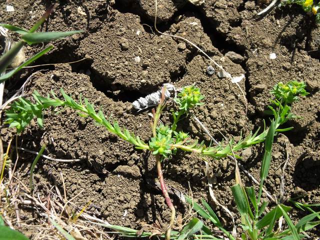
[[[9,148],[8,148],[9,149]],[[71,199],[67,199],[67,190],[63,184],[63,197],[56,183],[37,182],[36,189],[41,186],[47,194],[32,194],[28,187],[28,176],[21,177],[18,171],[4,174],[0,182],[0,215],[5,224],[22,231],[32,239],[64,239],[51,222],[54,221],[64,231],[73,236],[67,239],[113,239],[96,223],[109,223],[98,218],[98,214],[87,210],[76,202],[80,191]],[[68,210],[66,210],[68,209]]]

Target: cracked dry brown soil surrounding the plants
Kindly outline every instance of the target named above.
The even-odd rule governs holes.
[[[50,3],[54,1],[1,0],[0,22],[27,28]],[[13,5],[15,11],[6,12],[6,4]],[[206,98],[205,104],[195,109],[194,114],[216,139],[221,140],[217,129],[228,137],[239,139],[240,132],[246,135],[251,129],[263,125],[269,89],[276,82],[303,80],[310,94],[292,109],[303,118],[288,122],[287,125],[294,126],[294,129],[275,139],[266,189],[274,197],[278,196],[281,175],[278,166],[288,153],[284,197],[302,195],[302,202],[320,203],[320,28],[294,5],[274,9],[264,18],[256,18],[256,13],[264,7],[261,0],[205,0],[200,6],[184,0],[158,1],[160,30],[193,41],[231,75],[245,74],[240,86],[245,89],[249,102],[247,115],[239,89],[228,79],[218,78],[216,72],[208,75],[206,68],[210,62],[198,51],[180,40],[154,34],[153,0],[59,1],[41,30],[87,31],[55,41],[55,48],[37,63],[67,62],[86,57],[85,60],[28,69],[17,75],[9,87],[18,87],[32,72],[40,70],[27,84],[26,96],[30,97],[33,90],[41,94],[53,90],[59,95],[60,87],[75,97],[81,93],[95,104],[96,110],[101,107],[105,115],[148,141],[147,111],[135,113],[131,102],[165,82],[176,87],[195,83]],[[31,56],[41,47],[28,46],[25,53]],[[276,59],[269,58],[271,52],[276,53]],[[169,122],[170,115],[164,114],[161,119]],[[192,118],[183,120],[179,127],[189,131],[194,138],[209,142]],[[12,130],[1,129],[4,141],[12,134]],[[48,194],[45,184],[56,181],[62,187],[59,177],[62,172],[67,196],[71,198],[83,190],[75,199],[76,203],[85,205],[91,199],[89,209],[98,217],[133,228],[156,220],[166,226],[169,209],[161,192],[149,184],[149,179],[156,178],[152,155],[135,150],[103,127],[96,126],[91,119],[81,118],[68,108],[59,114],[45,112],[43,129],[32,121],[19,137],[19,145],[37,150],[41,139],[47,137],[50,142],[46,155],[79,158],[81,161],[61,163],[41,159],[35,170],[36,191],[40,196]],[[244,167],[256,179],[262,149],[261,144],[240,153]],[[28,172],[34,156],[23,152],[20,155],[23,159],[18,163],[18,171],[23,175]],[[216,198],[237,214],[230,191],[234,184],[233,162],[221,159],[209,163]],[[168,185],[187,193],[189,183],[193,197],[209,201],[223,224],[230,227],[228,215],[210,199],[204,171],[203,160],[194,154],[178,153],[163,162]],[[26,182],[27,179],[26,176]],[[254,185],[244,174],[243,179],[247,185]],[[185,206],[176,196],[171,197],[177,214],[185,214]],[[21,219],[24,213],[27,217],[27,213],[21,211]],[[293,220],[303,214],[297,209],[291,212]],[[37,230],[22,227],[21,231],[32,238]],[[316,236],[320,232],[314,230],[312,234]]]

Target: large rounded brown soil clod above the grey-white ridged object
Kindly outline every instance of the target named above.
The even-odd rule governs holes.
[[[131,13],[116,12],[115,20],[82,40],[77,52],[89,55],[97,76],[114,87],[143,92],[169,82],[185,68],[185,53],[177,43],[146,32]]]

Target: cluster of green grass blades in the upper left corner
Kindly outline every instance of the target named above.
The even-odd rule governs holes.
[[[22,67],[27,66],[28,64],[35,61],[37,58],[48,52],[52,49],[53,45],[49,45],[45,47],[43,50],[36,53],[30,59],[23,62],[18,67],[12,69],[11,71],[4,73],[7,66],[12,62],[15,55],[19,52],[19,50],[25,45],[29,44],[32,45],[34,43],[40,42],[47,42],[55,39],[59,39],[61,37],[69,36],[75,33],[80,33],[83,31],[52,31],[52,32],[36,32],[36,30],[41,26],[41,24],[45,21],[45,19],[50,15],[51,11],[53,10],[53,6],[51,6],[43,15],[42,17],[32,26],[30,30],[26,30],[17,26],[13,26],[10,24],[0,24],[0,26],[5,27],[13,32],[20,34],[21,40],[19,40],[16,44],[8,50],[5,54],[0,57],[0,83],[10,78],[13,74],[19,71]]]

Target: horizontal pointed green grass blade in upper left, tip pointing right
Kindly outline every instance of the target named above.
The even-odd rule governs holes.
[[[83,31],[48,31],[48,32],[33,32],[26,33],[21,36],[29,45],[40,42],[47,42],[51,40],[56,40],[65,36],[73,35]]]

